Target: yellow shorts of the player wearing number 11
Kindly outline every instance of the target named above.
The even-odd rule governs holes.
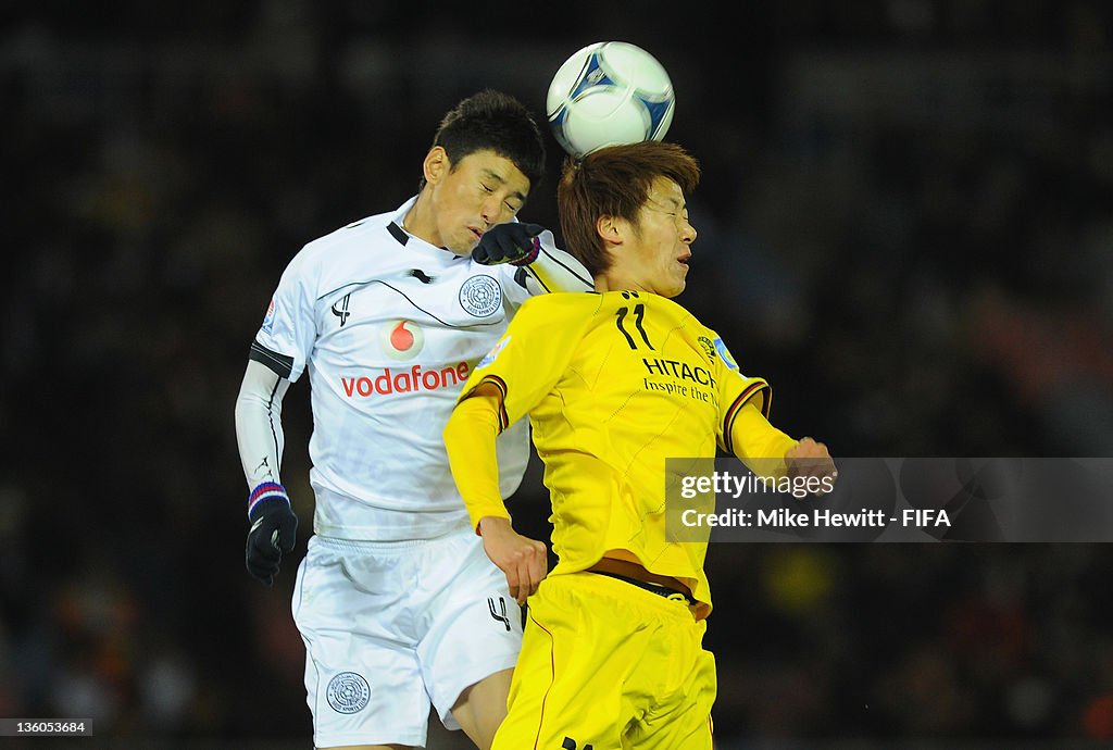
[[[492,750],[710,750],[715,657],[688,604],[594,573],[545,579]]]

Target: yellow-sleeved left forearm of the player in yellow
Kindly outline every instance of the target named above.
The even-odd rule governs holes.
[[[499,403],[493,396],[477,395],[460,402],[444,427],[452,477],[473,529],[485,516],[510,517],[499,492],[498,436]]]

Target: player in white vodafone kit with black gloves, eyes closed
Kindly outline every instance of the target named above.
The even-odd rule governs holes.
[[[293,610],[318,748],[424,747],[432,704],[486,749],[505,714],[519,603],[471,527],[442,432],[530,295],[591,288],[551,234],[516,220],[543,170],[518,100],[464,99],[441,122],[417,196],[306,245],[252,344],[236,434],[247,568],[268,585],[297,527],[280,406],[309,375],[316,507]],[[500,437],[504,496],[529,458],[526,428]],[[523,564],[543,570],[544,545]]]

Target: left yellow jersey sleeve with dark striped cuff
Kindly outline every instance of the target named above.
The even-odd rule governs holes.
[[[526,302],[505,335],[472,371],[460,399],[480,383],[491,383],[502,393],[500,431],[514,424],[549,394],[568,368],[600,299],[553,294]]]

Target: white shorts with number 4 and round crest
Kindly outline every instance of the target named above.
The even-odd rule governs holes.
[[[427,541],[311,536],[294,589],[318,748],[424,747],[465,688],[518,660],[522,618],[471,526]]]

